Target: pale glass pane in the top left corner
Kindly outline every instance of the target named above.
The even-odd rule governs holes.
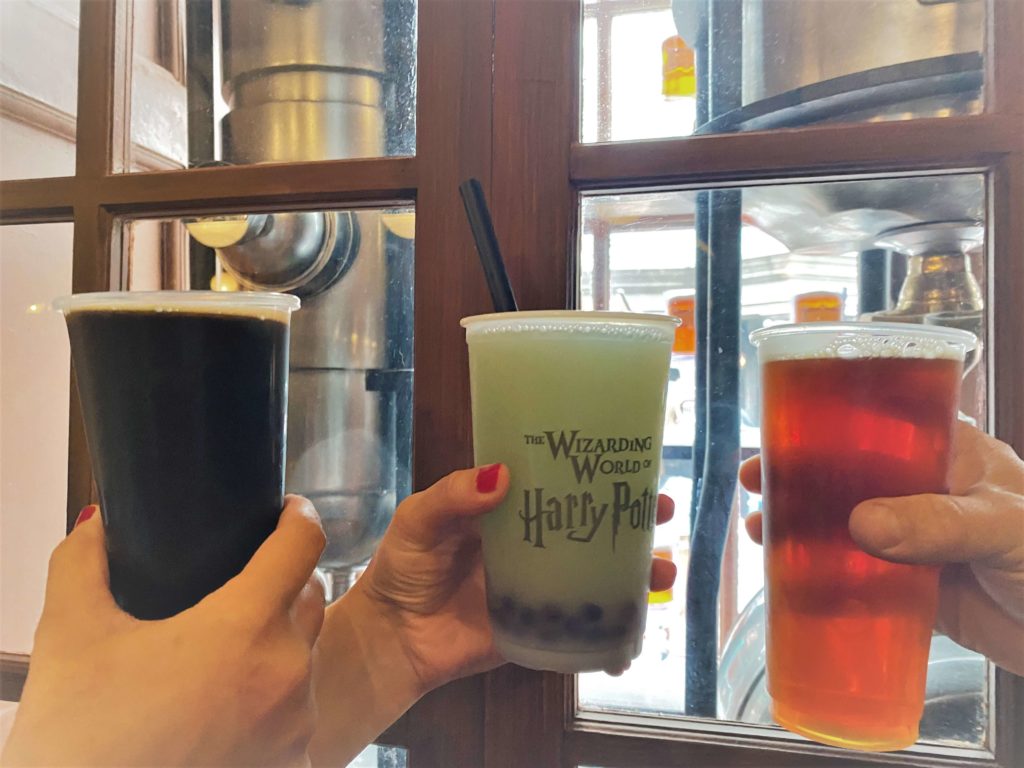
[[[0,2],[0,179],[75,173],[78,9]]]

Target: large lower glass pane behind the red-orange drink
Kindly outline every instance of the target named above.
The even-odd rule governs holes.
[[[695,546],[692,317],[698,269],[712,264],[713,302],[739,303],[739,445],[742,456],[751,456],[760,444],[760,393],[746,336],[758,328],[873,317],[967,328],[984,341],[985,179],[950,174],[595,195],[583,199],[582,217],[580,306],[671,311],[689,332],[680,332],[674,349],[663,456],[662,490],[676,501],[676,516],[655,535],[658,554],[675,560],[680,579],[669,595],[651,597],[643,653],[633,667],[620,678],[581,676],[579,703],[592,713],[682,716],[686,681],[694,679],[686,670],[685,574]],[[985,346],[969,360],[961,401],[964,418],[979,424],[987,416]],[[759,509],[760,497],[739,490],[727,506],[716,512],[730,521],[718,627],[693,630],[695,642],[705,638],[720,663],[717,670],[698,670],[698,679],[714,680],[718,718],[768,724],[763,560],[740,524]],[[691,591],[709,588],[714,585],[692,585]],[[984,658],[936,635],[929,669],[922,739],[984,745],[990,700]]]

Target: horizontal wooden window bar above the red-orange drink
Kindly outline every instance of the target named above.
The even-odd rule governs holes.
[[[574,144],[581,188],[798,178],[856,171],[987,167],[1020,146],[1014,116],[822,125],[676,139]]]

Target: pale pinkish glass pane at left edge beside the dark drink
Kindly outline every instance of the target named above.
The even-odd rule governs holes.
[[[0,652],[29,653],[68,505],[72,224],[0,227]]]

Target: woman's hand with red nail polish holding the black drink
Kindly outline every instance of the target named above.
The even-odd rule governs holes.
[[[176,616],[142,622],[111,596],[99,516],[80,522],[50,559],[4,765],[306,763],[324,542],[312,505],[289,497],[238,577]]]

